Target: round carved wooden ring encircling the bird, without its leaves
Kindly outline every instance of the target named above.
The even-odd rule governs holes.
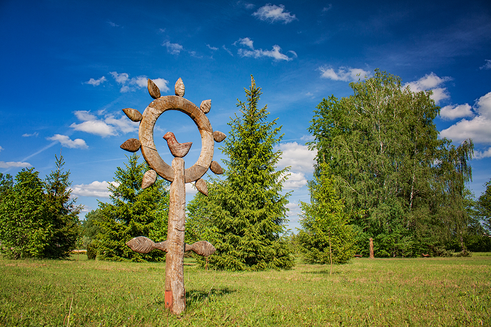
[[[213,160],[213,129],[205,113],[189,100],[179,96],[165,96],[154,100],[143,112],[138,130],[138,138],[141,143],[141,153],[146,162],[162,178],[172,182],[174,180],[174,169],[162,158],[155,147],[153,140],[153,128],[159,116],[166,110],[179,110],[187,114],[198,126],[201,134],[201,153],[198,161],[191,167],[185,169],[185,183],[193,182],[201,178]]]

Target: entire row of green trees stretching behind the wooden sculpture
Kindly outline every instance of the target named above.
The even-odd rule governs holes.
[[[350,83],[353,95],[323,99],[309,132],[317,150],[310,202],[301,202],[302,228],[285,228],[290,193],[282,192],[288,168],[278,170],[282,139],[277,119],[259,109],[261,89],[245,88],[240,113],[220,150],[222,178],[210,177],[208,196],[187,205],[186,243],[206,240],[217,249],[202,266],[218,270],[289,269],[300,256],[309,263],[343,264],[368,255],[372,238],[378,257],[434,256],[491,251],[491,180],[476,200],[467,188],[474,145],[439,139],[439,107],[431,93],[412,92],[401,80],[375,70]],[[110,184],[110,203],[88,213],[70,200],[69,172],[57,169],[45,181],[33,169],[13,179],[0,174],[1,253],[11,258],[66,258],[85,247],[89,257],[113,261],[163,261],[165,254],[138,254],[124,243],[135,236],[165,240],[168,183],[141,190],[149,169],[128,157]],[[78,243],[77,243],[78,237]]]

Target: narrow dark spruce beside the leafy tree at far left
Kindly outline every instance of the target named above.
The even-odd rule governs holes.
[[[70,251],[76,247],[75,243],[80,233],[78,214],[82,206],[75,204],[76,198],[70,199],[70,171],[63,171],[63,157],[61,154],[60,158],[55,155],[55,159],[56,169],[45,181],[45,208],[51,223],[51,233],[43,257],[64,259],[69,257]]]

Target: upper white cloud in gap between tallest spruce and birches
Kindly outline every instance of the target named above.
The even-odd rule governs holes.
[[[313,172],[313,164],[317,150],[310,151],[306,145],[297,142],[281,143],[275,147],[275,151],[281,150],[283,154],[278,161],[278,167],[284,168],[291,166],[291,171]]]

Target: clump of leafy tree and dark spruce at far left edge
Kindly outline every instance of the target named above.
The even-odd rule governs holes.
[[[55,158],[56,169],[45,182],[34,168],[22,169],[15,185],[1,194],[1,252],[9,258],[63,259],[75,248],[81,207],[70,199],[69,171],[62,171],[63,158]]]

